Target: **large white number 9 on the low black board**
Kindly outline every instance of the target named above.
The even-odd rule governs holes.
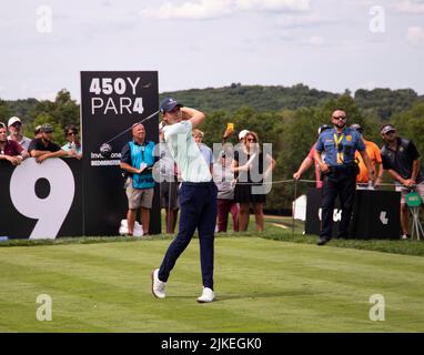
[[[50,193],[46,199],[36,194],[36,183],[47,179]],[[55,239],[71,209],[75,191],[73,174],[61,159],[47,159],[41,164],[27,159],[10,179],[10,197],[16,209],[27,217],[38,220],[30,240]]]

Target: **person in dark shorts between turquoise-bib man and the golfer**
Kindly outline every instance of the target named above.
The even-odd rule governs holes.
[[[180,210],[179,204],[179,176],[176,164],[163,139],[163,124],[160,125],[159,169],[161,209],[165,210],[166,233],[174,233]]]

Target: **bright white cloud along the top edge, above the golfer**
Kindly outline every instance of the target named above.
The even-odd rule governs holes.
[[[159,8],[144,8],[140,14],[154,19],[205,20],[230,16],[236,11],[310,10],[311,0],[200,0],[175,4],[165,1]]]

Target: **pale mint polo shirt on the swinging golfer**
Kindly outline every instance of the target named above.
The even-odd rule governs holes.
[[[210,182],[212,180],[209,166],[193,140],[190,121],[166,125],[164,139],[183,182]]]

